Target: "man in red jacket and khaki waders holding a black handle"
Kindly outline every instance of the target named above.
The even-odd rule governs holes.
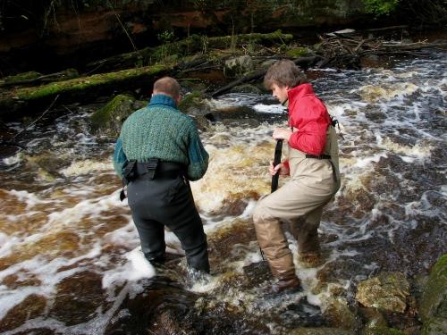
[[[264,78],[273,96],[288,105],[290,127],[274,130],[273,138],[284,141],[287,159],[276,166],[271,162],[269,172],[291,180],[261,197],[253,212],[259,246],[276,280],[273,293],[300,286],[282,222],[298,240],[300,259],[318,258],[323,207],[340,188],[337,135],[325,104],[306,81],[291,61],[274,63]]]

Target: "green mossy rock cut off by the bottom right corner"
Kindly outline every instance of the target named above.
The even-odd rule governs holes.
[[[422,334],[447,334],[447,255],[434,264],[419,306]]]

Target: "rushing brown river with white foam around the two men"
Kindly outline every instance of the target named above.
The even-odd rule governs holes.
[[[210,101],[232,122],[201,134],[210,163],[192,189],[212,276],[198,282],[187,279],[184,257],[158,271],[145,261],[128,205],[119,200],[113,139],[89,133],[97,106],[68,106],[55,120],[46,115],[21,135],[24,149],[2,149],[0,331],[283,334],[344,327],[331,306],[338,301],[355,314],[358,281],[386,271],[411,281],[446,252],[446,69],[445,53],[433,51],[387,70],[318,73],[316,93],[341,124],[342,188],[319,230],[324,263],[309,267],[297,257],[303,291],[280,297],[263,293],[271,277],[251,222],[257,198],[270,188],[272,129],[286,121],[270,96]],[[12,134],[23,129],[7,126]],[[168,251],[181,255],[173,233],[165,236]],[[296,255],[297,242],[288,238]],[[408,315],[395,318],[389,322],[396,328],[417,326]]]

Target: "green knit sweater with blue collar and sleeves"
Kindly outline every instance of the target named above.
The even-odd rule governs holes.
[[[149,158],[185,164],[189,180],[199,180],[207,172],[208,154],[197,127],[170,96],[152,96],[147,107],[124,121],[116,141],[114,169],[120,177],[127,161],[148,162]]]

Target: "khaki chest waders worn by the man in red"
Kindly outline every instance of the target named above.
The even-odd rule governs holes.
[[[317,253],[317,229],[323,207],[340,187],[340,181],[333,180],[332,165],[328,160],[305,158],[295,153],[291,155],[290,163],[295,165],[293,169],[291,166],[291,180],[262,197],[253,212],[259,246],[276,278],[295,273],[281,222],[289,223],[291,233],[299,242],[299,252]]]

